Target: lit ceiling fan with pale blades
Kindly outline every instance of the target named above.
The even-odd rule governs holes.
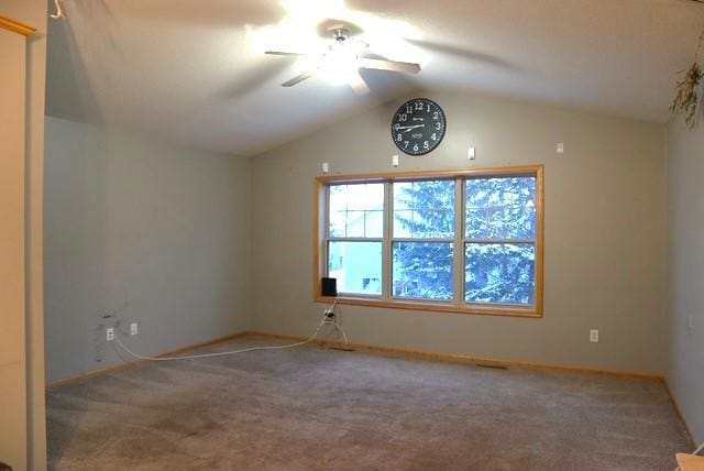
[[[305,72],[290,80],[282,84],[282,87],[293,87],[312,77],[322,70],[334,74],[344,79],[358,95],[370,92],[370,87],[360,75],[361,68],[372,68],[377,70],[403,72],[406,74],[418,74],[420,65],[408,62],[386,61],[380,58],[362,57],[367,52],[370,45],[364,41],[352,37],[350,30],[343,24],[336,24],[328,29],[332,34],[333,42],[318,57],[317,66],[312,70]],[[266,54],[279,56],[305,56],[308,54],[266,51]]]

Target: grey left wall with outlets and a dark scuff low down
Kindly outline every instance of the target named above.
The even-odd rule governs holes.
[[[46,118],[46,374],[153,354],[250,328],[250,163]]]

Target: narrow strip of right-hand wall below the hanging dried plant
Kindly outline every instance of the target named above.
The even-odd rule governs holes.
[[[704,128],[670,124],[670,354],[668,384],[704,441]]]

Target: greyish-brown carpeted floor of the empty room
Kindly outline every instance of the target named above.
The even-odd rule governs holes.
[[[140,365],[51,390],[47,415],[63,470],[671,471],[691,451],[656,382],[316,346]]]

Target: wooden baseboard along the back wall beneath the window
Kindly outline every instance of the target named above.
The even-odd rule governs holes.
[[[270,333],[270,332],[263,332],[257,330],[253,330],[246,333],[253,335],[253,336],[268,337],[272,339],[295,340],[295,341],[305,340],[304,337],[288,336],[288,335],[282,335],[282,333]],[[326,340],[314,340],[311,341],[311,343],[326,344],[326,346],[338,347],[338,348],[344,347],[344,343],[342,342],[329,342]],[[386,354],[391,357],[420,358],[426,360],[446,361],[446,362],[452,362],[452,363],[473,363],[473,364],[490,365],[490,366],[517,366],[517,368],[526,368],[531,370],[553,370],[553,371],[563,371],[563,372],[574,372],[574,373],[603,374],[608,376],[630,377],[630,379],[637,379],[637,380],[664,382],[663,376],[657,375],[657,374],[647,374],[647,373],[632,373],[632,372],[613,371],[613,370],[595,370],[595,369],[588,369],[588,368],[582,368],[582,366],[538,363],[538,362],[530,362],[530,361],[497,360],[497,359],[485,358],[485,357],[471,357],[471,355],[452,354],[452,353],[436,353],[436,352],[427,352],[427,351],[420,351],[420,350],[370,346],[365,343],[349,343],[348,348],[366,351],[370,353]]]

